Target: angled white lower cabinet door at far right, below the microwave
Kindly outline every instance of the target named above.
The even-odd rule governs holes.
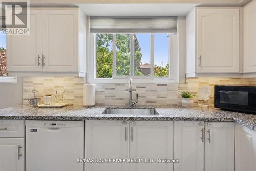
[[[256,131],[238,123],[235,124],[236,171],[255,171]]]

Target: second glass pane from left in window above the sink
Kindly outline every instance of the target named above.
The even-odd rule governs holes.
[[[130,34],[116,34],[116,75],[129,76],[130,60],[131,60],[131,45]]]

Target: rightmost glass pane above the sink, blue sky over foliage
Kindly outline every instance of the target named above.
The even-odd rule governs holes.
[[[169,34],[155,34],[154,37],[154,76],[169,77]]]

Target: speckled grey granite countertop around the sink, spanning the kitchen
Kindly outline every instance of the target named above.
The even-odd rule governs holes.
[[[143,121],[205,121],[237,122],[256,131],[256,115],[219,109],[156,108],[159,115],[105,115],[106,107],[67,106],[64,108],[33,108],[28,105],[0,109],[0,119],[17,120],[143,120]]]

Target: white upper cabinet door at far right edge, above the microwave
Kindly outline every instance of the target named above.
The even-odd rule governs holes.
[[[244,7],[244,73],[256,72],[256,1]]]

